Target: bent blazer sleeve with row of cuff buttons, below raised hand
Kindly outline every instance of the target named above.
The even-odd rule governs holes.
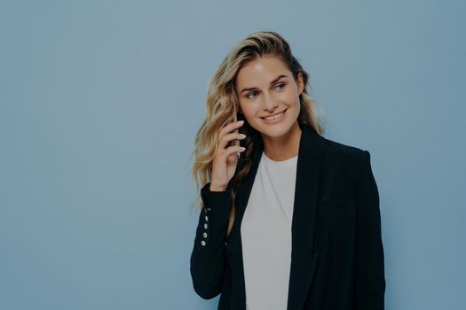
[[[201,188],[204,208],[199,214],[190,260],[194,291],[204,299],[215,298],[221,292],[231,203],[231,183],[224,191],[210,191],[209,187],[210,182]]]

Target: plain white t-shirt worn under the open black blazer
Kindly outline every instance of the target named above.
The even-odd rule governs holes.
[[[296,164],[297,156],[273,161],[263,152],[257,167],[241,221],[249,310],[287,308]]]

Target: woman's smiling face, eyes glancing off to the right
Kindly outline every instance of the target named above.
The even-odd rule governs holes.
[[[266,138],[284,136],[295,125],[300,110],[299,95],[304,82],[301,73],[296,83],[280,58],[265,55],[243,66],[235,81],[240,112],[252,128]],[[265,120],[279,114],[278,119]]]

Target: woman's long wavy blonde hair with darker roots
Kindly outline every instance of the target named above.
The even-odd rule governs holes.
[[[317,111],[318,106],[307,91],[310,80],[303,67],[293,56],[289,44],[285,39],[273,31],[257,31],[248,35],[241,43],[236,44],[230,53],[223,59],[217,72],[209,79],[207,94],[206,118],[201,124],[201,128],[196,133],[194,140],[194,151],[190,158],[194,156],[192,174],[196,183],[196,199],[194,204],[200,206],[200,210],[205,207],[200,195],[200,189],[207,182],[210,182],[212,163],[217,147],[217,137],[220,129],[233,120],[233,113],[236,113],[238,120],[244,120],[239,132],[246,135],[241,144],[247,145],[246,151],[241,152],[241,159],[238,161],[236,172],[231,180],[231,211],[228,220],[227,236],[233,228],[235,216],[235,197],[240,187],[242,178],[248,174],[252,165],[252,155],[254,145],[262,143],[262,137],[255,128],[249,126],[248,121],[238,113],[240,103],[236,96],[235,80],[241,68],[250,61],[264,55],[273,55],[280,58],[293,74],[297,82],[298,73],[303,74],[304,90],[299,95],[300,112],[298,122],[308,124],[320,135],[325,128],[320,120]],[[309,86],[311,87],[311,86]],[[225,205],[225,207],[227,207]]]

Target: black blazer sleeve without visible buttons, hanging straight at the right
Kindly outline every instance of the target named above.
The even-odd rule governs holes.
[[[359,159],[356,197],[356,309],[383,310],[385,276],[381,215],[369,151],[363,151]]]

